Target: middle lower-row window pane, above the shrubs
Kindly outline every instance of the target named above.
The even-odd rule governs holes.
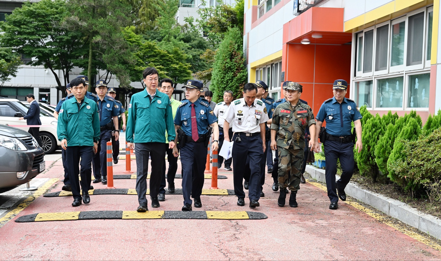
[[[377,79],[377,107],[403,107],[403,76]]]

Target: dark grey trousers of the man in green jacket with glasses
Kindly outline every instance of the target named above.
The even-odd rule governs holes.
[[[147,203],[147,174],[149,171],[149,156],[152,172],[150,173],[150,196],[157,197],[162,177],[162,163],[167,144],[161,142],[136,143],[136,192],[138,202]]]

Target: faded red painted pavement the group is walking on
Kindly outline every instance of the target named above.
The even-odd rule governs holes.
[[[123,174],[125,162],[114,167]],[[180,166],[179,166],[180,167]],[[132,170],[136,168],[132,161]],[[180,169],[178,170],[180,173]],[[233,189],[232,172],[221,189]],[[441,253],[363,212],[340,203],[329,210],[326,193],[301,185],[298,208],[277,206],[278,193],[266,175],[261,207],[236,205],[235,196],[202,196],[202,208],[263,212],[263,220],[77,220],[15,223],[0,228],[1,260],[440,260]],[[63,176],[61,160],[39,178]],[[179,188],[182,179],[176,179]],[[57,182],[51,192],[60,191]],[[116,188],[135,188],[135,180],[115,180]],[[96,189],[106,185],[93,184]],[[210,187],[205,180],[204,188]],[[289,196],[288,196],[289,197]],[[135,195],[95,195],[89,205],[71,207],[71,197],[38,197],[18,216],[41,212],[136,210]],[[148,198],[149,199],[149,198]],[[154,210],[180,210],[182,195],[166,195]],[[287,200],[288,203],[288,200]],[[150,207],[149,200],[149,209]],[[424,250],[424,251],[423,251]]]

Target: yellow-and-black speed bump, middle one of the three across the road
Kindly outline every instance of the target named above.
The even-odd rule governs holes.
[[[147,189],[146,195],[150,194],[150,189]],[[182,195],[182,189],[175,189],[175,192],[170,193],[165,191],[167,195]],[[136,189],[90,189],[89,195],[138,195]],[[234,196],[234,189],[202,189],[202,195],[212,196]],[[57,191],[47,193],[43,197],[66,197],[72,196],[69,191]]]

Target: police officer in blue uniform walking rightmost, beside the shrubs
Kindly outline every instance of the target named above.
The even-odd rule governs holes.
[[[315,151],[318,152],[320,145],[318,137],[323,143],[326,158],[326,187],[328,189],[328,197],[331,200],[329,209],[338,208],[338,198],[346,200],[344,189],[351,180],[354,172],[354,137],[351,133],[351,122],[354,122],[357,142],[355,148],[360,152],[363,148],[361,141],[361,121],[362,118],[355,102],[351,99],[344,98],[348,89],[348,83],[343,79],[334,81],[333,94],[334,97],[327,99],[320,107],[317,113],[317,124],[315,134]],[[326,129],[320,132],[323,121],[326,121]],[[340,159],[342,174],[336,182],[335,175],[337,173],[337,159]],[[338,197],[337,197],[338,192]]]

